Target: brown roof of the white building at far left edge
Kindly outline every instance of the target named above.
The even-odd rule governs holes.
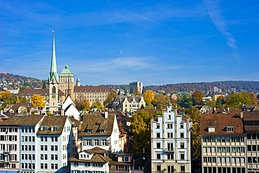
[[[37,116],[14,116],[13,118],[0,122],[0,125],[36,125],[39,120],[43,118],[43,115]]]

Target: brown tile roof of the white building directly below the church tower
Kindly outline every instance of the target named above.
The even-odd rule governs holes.
[[[67,118],[67,116],[45,116],[41,127],[46,126],[47,130],[41,131],[41,127],[39,127],[37,134],[62,134]],[[52,126],[58,126],[58,129],[56,131],[51,130]]]

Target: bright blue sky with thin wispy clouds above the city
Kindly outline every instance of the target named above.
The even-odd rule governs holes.
[[[83,85],[259,80],[259,1],[0,1],[0,72]]]

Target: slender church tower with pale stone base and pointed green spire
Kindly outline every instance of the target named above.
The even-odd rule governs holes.
[[[59,76],[57,74],[54,31],[53,31],[52,59],[51,59],[51,65],[50,65],[50,74],[48,76],[48,85],[49,85],[49,105],[50,105],[49,111],[51,113],[57,113]]]

